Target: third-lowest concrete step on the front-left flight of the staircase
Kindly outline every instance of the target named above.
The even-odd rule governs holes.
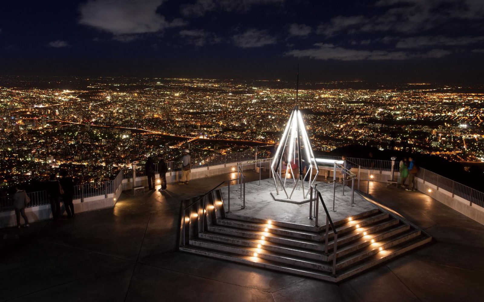
[[[327,256],[324,256],[322,251],[303,249],[303,248],[299,248],[298,246],[286,246],[282,244],[275,244],[275,243],[265,241],[265,240],[260,240],[260,239],[227,236],[227,235],[221,235],[219,233],[212,233],[212,232],[199,233],[198,238],[211,240],[213,242],[237,244],[237,245],[253,247],[253,248],[257,248],[258,245],[260,244],[260,246],[263,249],[280,253],[280,254],[286,254],[290,256],[296,256],[296,257],[319,260],[319,261],[327,260]]]

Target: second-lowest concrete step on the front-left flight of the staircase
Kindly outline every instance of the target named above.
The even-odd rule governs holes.
[[[285,263],[292,266],[308,268],[317,271],[330,272],[331,266],[325,264],[322,261],[315,261],[312,259],[298,258],[295,256],[289,256],[286,254],[275,253],[266,249],[257,247],[247,247],[235,244],[220,243],[214,241],[208,241],[203,239],[190,240],[190,245],[198,246],[206,249],[218,250],[222,252],[239,254],[243,256],[256,256],[260,259],[271,260],[279,263]]]

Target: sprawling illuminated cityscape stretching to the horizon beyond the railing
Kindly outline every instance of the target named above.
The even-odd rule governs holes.
[[[3,186],[46,179],[60,166],[84,181],[109,179],[130,160],[177,158],[187,146],[202,157],[274,144],[295,104],[292,83],[277,80],[4,77],[2,83]],[[484,161],[484,93],[352,84],[300,90],[315,150],[361,144]]]

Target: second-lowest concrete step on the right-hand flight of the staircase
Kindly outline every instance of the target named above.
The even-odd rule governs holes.
[[[408,240],[420,236],[420,234],[420,230],[410,229],[404,233],[398,234],[397,236],[393,236],[390,238],[386,238],[382,241],[372,243],[367,247],[360,249],[357,252],[350,254],[347,257],[343,257],[343,259],[337,261],[336,269],[340,270],[342,268],[348,267],[351,264],[362,261],[373,255],[377,255],[378,253],[385,254],[386,252],[384,252],[384,250],[386,250],[387,248],[391,248],[397,244],[402,244]],[[382,248],[382,251],[380,251],[380,247]]]

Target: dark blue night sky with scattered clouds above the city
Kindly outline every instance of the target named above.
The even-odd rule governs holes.
[[[483,83],[484,0],[0,4],[1,75]]]

